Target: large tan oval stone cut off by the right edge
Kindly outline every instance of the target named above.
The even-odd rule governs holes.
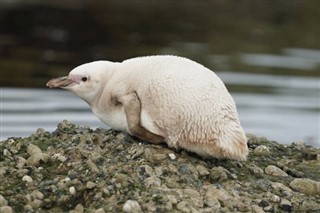
[[[289,184],[291,188],[306,195],[320,195],[320,182],[308,178],[296,178]]]

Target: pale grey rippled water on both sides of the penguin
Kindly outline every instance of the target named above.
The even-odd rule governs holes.
[[[290,57],[277,58],[270,55],[243,57],[244,60],[251,57],[250,63],[260,63],[261,66],[286,66],[285,60],[292,60]],[[311,60],[310,56],[294,57],[297,63],[295,67],[304,66],[305,70],[308,70],[312,66],[319,66],[317,58]],[[227,70],[216,73],[230,88],[234,85],[251,88],[248,92],[231,90],[247,133],[265,136],[285,144],[304,141],[320,146],[319,77]],[[255,87],[269,88],[269,92],[254,91],[252,88]],[[64,119],[92,128],[107,128],[94,116],[84,101],[70,92],[45,88],[1,88],[1,140],[10,136],[28,136],[39,127],[53,131]]]

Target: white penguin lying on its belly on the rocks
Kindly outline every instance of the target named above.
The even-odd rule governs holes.
[[[142,140],[205,158],[245,160],[248,155],[233,98],[213,71],[192,60],[95,61],[47,86],[71,90],[105,124]]]

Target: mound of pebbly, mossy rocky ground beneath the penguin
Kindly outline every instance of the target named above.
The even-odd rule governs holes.
[[[204,160],[64,121],[0,142],[0,212],[320,212],[320,149],[248,138]]]

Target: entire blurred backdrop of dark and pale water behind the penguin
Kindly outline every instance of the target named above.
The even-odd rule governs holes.
[[[320,1],[1,0],[1,140],[68,119],[104,127],[45,88],[94,60],[169,54],[214,70],[247,133],[320,146]]]

